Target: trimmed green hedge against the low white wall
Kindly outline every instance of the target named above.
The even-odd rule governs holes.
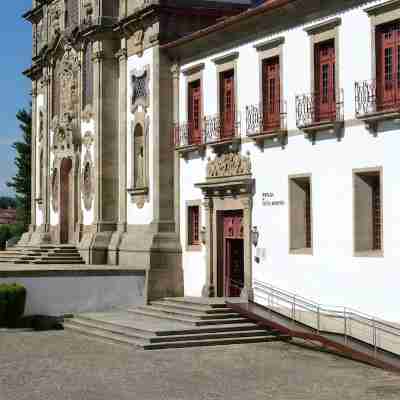
[[[26,289],[18,283],[0,284],[0,326],[16,327],[25,311]]]

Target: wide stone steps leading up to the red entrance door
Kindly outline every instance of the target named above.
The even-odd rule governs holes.
[[[148,306],[75,316],[68,329],[144,350],[270,342],[288,339],[259,327],[222,299],[166,298]]]

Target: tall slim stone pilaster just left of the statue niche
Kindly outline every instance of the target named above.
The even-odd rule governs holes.
[[[118,231],[125,232],[127,224],[127,110],[128,110],[128,56],[127,40],[121,39],[121,49],[116,54],[119,61],[119,125],[118,125],[118,158],[119,158],[119,197],[118,197]]]

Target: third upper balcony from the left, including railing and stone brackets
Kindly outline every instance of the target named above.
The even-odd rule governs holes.
[[[259,147],[264,147],[266,140],[279,141],[285,145],[287,138],[286,102],[246,106],[246,135]]]

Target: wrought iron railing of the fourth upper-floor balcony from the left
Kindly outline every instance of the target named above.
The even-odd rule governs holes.
[[[296,96],[296,125],[307,128],[343,121],[343,90]]]

